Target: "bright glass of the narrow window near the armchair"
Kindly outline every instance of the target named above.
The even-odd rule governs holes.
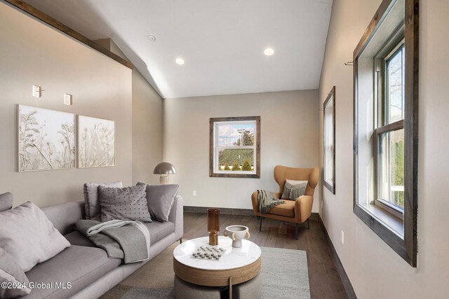
[[[324,165],[326,172],[324,180],[332,184],[334,181],[334,135],[333,135],[333,101],[331,100],[324,109]]]

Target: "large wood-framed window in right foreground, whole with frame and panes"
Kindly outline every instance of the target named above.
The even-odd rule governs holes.
[[[354,214],[417,265],[418,0],[384,0],[354,50]]]

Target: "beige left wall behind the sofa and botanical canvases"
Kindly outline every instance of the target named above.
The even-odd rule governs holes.
[[[132,183],[131,70],[0,3],[0,193],[40,207],[83,199],[83,183]],[[32,85],[43,88],[32,97]],[[63,95],[73,95],[65,106]],[[116,166],[17,172],[17,104],[115,120]]]

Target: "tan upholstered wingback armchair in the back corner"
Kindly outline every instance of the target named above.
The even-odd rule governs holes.
[[[267,214],[260,214],[257,202],[257,191],[251,195],[253,202],[253,211],[256,216],[260,216],[260,228],[262,230],[262,218],[273,218],[281,221],[295,223],[295,238],[297,239],[298,224],[307,220],[309,228],[309,217],[311,215],[311,206],[314,203],[314,190],[318,183],[320,170],[315,168],[291,168],[277,165],[274,167],[274,180],[279,185],[279,193],[276,198],[281,198],[283,186],[286,179],[294,181],[308,181],[304,195],[295,200],[284,200],[285,204],[279,204],[269,210]]]

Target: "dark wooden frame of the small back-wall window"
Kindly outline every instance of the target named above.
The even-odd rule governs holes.
[[[229,172],[226,174],[217,173],[214,169],[214,130],[215,123],[219,122],[239,122],[254,120],[256,124],[255,132],[255,174],[236,174]],[[260,116],[243,116],[243,117],[228,117],[228,118],[210,118],[209,119],[209,176],[210,177],[224,177],[224,178],[246,178],[246,179],[260,179]]]

